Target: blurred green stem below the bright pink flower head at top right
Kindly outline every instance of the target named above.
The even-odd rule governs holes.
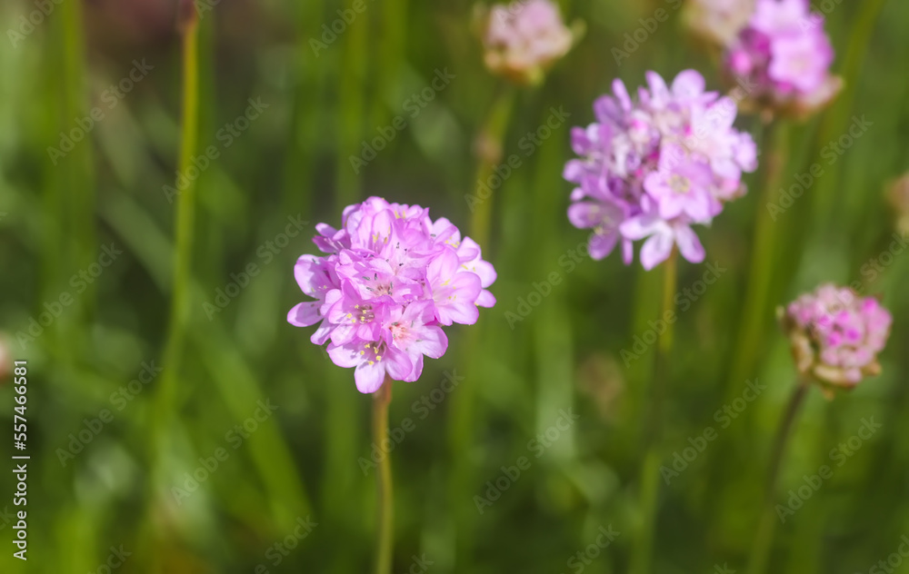
[[[733,364],[730,369],[729,391],[738,391],[738,384],[754,367],[754,359],[761,346],[764,323],[770,316],[766,312],[767,295],[774,275],[774,243],[776,224],[767,205],[774,203],[780,188],[786,161],[789,157],[788,125],[772,123],[764,126],[764,187],[757,204],[757,223],[754,228],[754,247],[751,269],[744,299],[744,312],[739,327]]]

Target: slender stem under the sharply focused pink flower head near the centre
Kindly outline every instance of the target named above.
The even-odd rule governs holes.
[[[392,379],[373,393],[373,440],[382,448],[388,438],[388,404],[392,401]],[[395,549],[395,494],[392,486],[391,455],[379,461],[378,481],[379,527],[375,541],[375,574],[391,574]]]

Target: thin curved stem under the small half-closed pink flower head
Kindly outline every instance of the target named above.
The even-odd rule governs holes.
[[[774,530],[776,529],[776,520],[774,520],[776,483],[779,480],[786,445],[789,442],[789,437],[792,436],[795,418],[798,416],[804,397],[808,393],[808,385],[809,382],[804,378],[799,381],[798,386],[793,391],[792,398],[789,400],[789,405],[786,407],[783,419],[780,420],[780,426],[776,430],[774,450],[770,459],[770,471],[767,473],[764,510],[757,529],[757,535],[754,537],[754,546],[752,547],[748,569],[749,574],[763,574],[767,565],[767,557],[770,553],[774,540]]]

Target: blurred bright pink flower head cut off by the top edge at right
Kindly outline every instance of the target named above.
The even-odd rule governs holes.
[[[830,74],[834,48],[824,17],[810,12],[808,0],[757,0],[724,60],[727,73],[754,85],[750,104],[781,114],[811,114],[843,85]]]

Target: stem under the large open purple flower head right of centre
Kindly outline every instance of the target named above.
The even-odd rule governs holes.
[[[663,302],[660,305],[660,319],[675,310],[675,286],[677,281],[678,252],[673,249],[669,259],[664,263]],[[666,379],[669,376],[669,353],[673,348],[673,324],[666,321],[666,330],[657,341],[654,353],[654,374],[650,388],[650,410],[647,426],[644,430],[644,464],[641,469],[640,508],[643,521],[634,539],[632,548],[631,574],[646,574],[651,567],[651,554],[654,547],[654,530],[656,527],[657,499],[660,492],[660,441],[663,432],[663,401],[666,390]]]

